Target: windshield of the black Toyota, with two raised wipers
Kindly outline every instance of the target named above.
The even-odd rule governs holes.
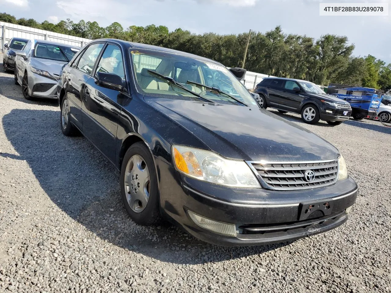
[[[257,105],[244,85],[236,79],[231,71],[219,64],[179,54],[151,52],[149,50],[133,50],[130,55],[136,71],[138,87],[146,95],[158,98],[199,100],[199,96],[197,97],[181,89],[173,82],[164,80],[153,73],[151,74],[150,70],[152,70],[173,79],[178,84],[207,100],[219,104],[242,105],[235,101],[237,99],[246,105]],[[220,91],[210,88],[219,89]]]

